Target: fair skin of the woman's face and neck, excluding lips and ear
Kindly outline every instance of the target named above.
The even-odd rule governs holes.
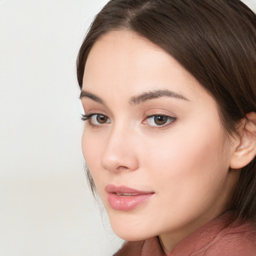
[[[95,113],[85,121],[82,151],[118,236],[158,235],[170,253],[226,210],[239,175],[229,169],[237,145],[225,138],[215,100],[175,59],[135,33],[108,32],[88,55],[82,90],[85,113]],[[134,101],[155,90],[180,97]],[[102,123],[96,114],[105,116]],[[151,115],[174,118],[156,125]],[[107,184],[153,196],[132,210],[116,210],[107,200]]]

